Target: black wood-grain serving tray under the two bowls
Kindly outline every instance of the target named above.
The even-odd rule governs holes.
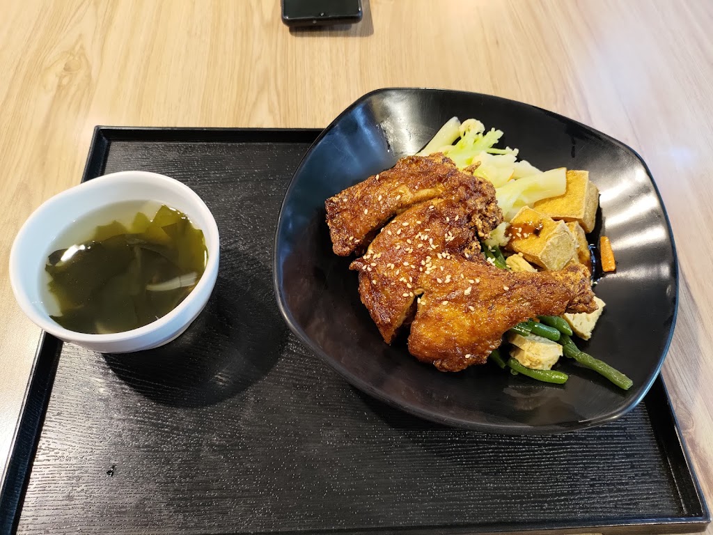
[[[0,531],[703,531],[661,378],[615,422],[508,437],[392,409],[297,342],[275,303],[272,244],[318,133],[96,129],[83,180],[138,169],[190,185],[217,220],[220,274],[198,320],[158,350],[101,355],[43,336]]]

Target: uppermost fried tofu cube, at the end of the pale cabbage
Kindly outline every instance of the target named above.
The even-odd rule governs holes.
[[[555,220],[577,221],[590,233],[594,230],[598,206],[599,190],[589,180],[589,171],[568,170],[564,195],[538,200],[533,208]]]

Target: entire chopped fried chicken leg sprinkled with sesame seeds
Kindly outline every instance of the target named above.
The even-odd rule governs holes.
[[[503,220],[495,188],[442,154],[402,158],[325,205],[334,253],[366,250],[349,267],[381,336],[391,343],[410,324],[409,352],[438,370],[483,364],[531,317],[597,309],[583,265],[509,272],[486,262],[478,240]]]

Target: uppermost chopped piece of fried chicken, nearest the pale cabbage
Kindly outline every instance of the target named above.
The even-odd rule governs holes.
[[[464,183],[472,182],[472,175],[456,168],[443,154],[408,156],[393,168],[377,173],[327,199],[327,225],[334,253],[348,256],[364,250],[376,232],[394,215],[417,203],[448,197]],[[485,181],[481,180],[481,183]],[[492,186],[491,186],[492,188]],[[485,199],[485,198],[484,198]],[[487,198],[490,200],[490,198]],[[478,233],[486,238],[490,231],[486,217],[501,219],[501,211],[493,198],[491,206],[483,206]],[[482,221],[482,223],[481,223]]]

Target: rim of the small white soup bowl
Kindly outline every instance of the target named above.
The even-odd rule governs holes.
[[[77,332],[73,330],[66,329],[58,323],[54,322],[48,314],[42,315],[37,312],[36,307],[30,302],[29,297],[26,292],[27,284],[26,279],[21,276],[21,258],[19,253],[19,247],[21,241],[25,238],[25,235],[29,232],[29,227],[36,223],[37,220],[41,219],[44,212],[51,208],[56,203],[62,200],[77,195],[78,192],[83,192],[88,188],[101,189],[106,188],[108,185],[113,185],[114,183],[119,183],[127,178],[138,178],[140,180],[145,180],[148,182],[158,183],[163,188],[171,188],[178,191],[180,195],[185,197],[190,203],[195,205],[196,210],[198,210],[206,220],[206,227],[201,228],[203,235],[205,236],[205,245],[208,251],[208,261],[205,265],[205,270],[195,285],[193,290],[191,290],[188,297],[186,297],[180,304],[173,310],[168,312],[168,314],[158,318],[153,322],[138,327],[136,329],[115,332],[111,334],[104,335],[93,335],[86,332]],[[87,212],[93,210],[96,206],[90,205],[87,207]],[[73,212],[72,214],[76,214]],[[58,337],[61,340],[72,340],[78,344],[96,344],[101,345],[103,343],[113,343],[113,342],[126,342],[129,340],[135,340],[150,333],[156,332],[163,329],[167,325],[170,325],[175,321],[176,317],[179,317],[183,312],[190,307],[191,303],[195,300],[200,300],[202,295],[206,290],[210,290],[212,287],[212,278],[210,273],[217,270],[218,261],[220,257],[220,235],[218,233],[217,224],[215,223],[215,218],[208,209],[207,205],[200,198],[198,193],[195,193],[188,185],[175,180],[175,178],[170,178],[169,176],[162,175],[160,173],[152,173],[150,171],[143,170],[125,170],[118,171],[116,173],[108,173],[106,175],[101,175],[86,182],[74,185],[71,188],[61,191],[60,193],[53,195],[51,198],[45,200],[38,208],[36,208],[25,220],[20,230],[13,240],[12,248],[10,250],[10,261],[9,261],[9,271],[10,271],[10,285],[12,291],[15,295],[15,300],[20,306],[21,310],[25,313],[29,319],[41,327],[42,330],[49,332],[51,335]]]

